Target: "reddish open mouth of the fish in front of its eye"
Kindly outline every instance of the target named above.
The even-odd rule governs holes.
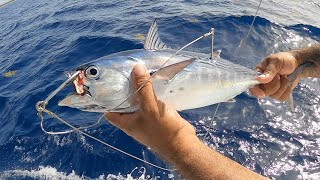
[[[84,71],[83,70],[78,70],[78,71],[80,71],[80,73],[72,81],[72,85],[75,90],[74,94],[80,95],[80,96],[88,95],[88,96],[92,97],[92,95],[89,91],[89,86],[84,84]],[[74,71],[73,72],[66,72],[65,74],[68,78],[70,78],[76,72],[74,72]]]

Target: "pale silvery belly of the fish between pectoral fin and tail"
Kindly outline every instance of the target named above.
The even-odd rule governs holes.
[[[252,70],[221,69],[210,64],[194,63],[167,82],[156,94],[177,110],[200,108],[239,95],[258,84]]]

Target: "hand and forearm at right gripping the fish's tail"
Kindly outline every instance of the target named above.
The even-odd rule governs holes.
[[[296,71],[299,74],[290,83],[288,75],[300,65],[305,66],[301,71]],[[257,78],[261,84],[251,88],[250,92],[259,98],[270,96],[284,101],[301,78],[320,76],[320,46],[272,54],[262,60],[257,70],[263,73]]]

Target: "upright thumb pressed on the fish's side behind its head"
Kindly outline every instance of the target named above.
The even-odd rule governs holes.
[[[149,80],[150,75],[147,69],[143,65],[137,64],[132,70],[131,77],[134,87],[137,90],[141,88],[137,92],[140,109],[144,112],[156,110],[157,101],[153,92],[152,83]]]

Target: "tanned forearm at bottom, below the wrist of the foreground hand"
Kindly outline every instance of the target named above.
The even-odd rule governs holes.
[[[167,157],[186,179],[264,179],[203,144],[195,135],[175,143],[174,156]]]

